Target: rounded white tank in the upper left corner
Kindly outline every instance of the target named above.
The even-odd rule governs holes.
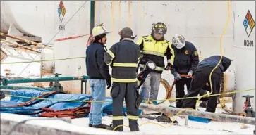
[[[58,5],[59,1],[1,1],[1,32],[7,33],[13,26],[24,34],[42,37],[47,44],[58,27]]]

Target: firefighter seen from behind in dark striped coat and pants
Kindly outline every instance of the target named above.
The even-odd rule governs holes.
[[[111,97],[113,99],[113,122],[109,130],[118,125],[123,125],[123,99],[129,120],[130,131],[139,131],[138,108],[135,102],[138,98],[137,91],[137,63],[140,58],[140,48],[133,42],[133,31],[129,27],[123,28],[119,35],[121,39],[111,46],[104,54],[104,61],[112,68],[113,82]],[[123,127],[117,127],[116,131],[123,131]]]

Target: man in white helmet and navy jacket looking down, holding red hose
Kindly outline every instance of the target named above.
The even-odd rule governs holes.
[[[195,67],[199,63],[199,57],[194,44],[185,41],[185,38],[181,34],[175,34],[172,42],[171,48],[174,51],[175,60],[171,67],[171,74],[176,79],[176,98],[183,98],[185,96],[184,85],[189,89],[192,80],[191,77],[193,76]],[[181,77],[181,75],[188,75],[188,77]],[[207,92],[200,91],[200,96],[204,94],[207,94]],[[205,101],[203,101],[204,103]],[[181,106],[181,100],[176,100],[176,108],[181,108]]]

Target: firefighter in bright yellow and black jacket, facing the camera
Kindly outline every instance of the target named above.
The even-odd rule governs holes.
[[[150,35],[143,36],[138,45],[142,51],[142,60],[140,60],[140,70],[145,68],[145,64],[152,60],[157,67],[150,72],[142,85],[142,97],[144,100],[157,100],[159,86],[161,82],[161,73],[163,70],[170,70],[173,65],[174,54],[169,41],[164,39],[167,27],[164,23],[156,23],[152,26]],[[164,68],[164,56],[167,58],[167,65]]]

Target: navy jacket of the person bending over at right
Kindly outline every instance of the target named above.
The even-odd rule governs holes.
[[[197,68],[215,67],[219,63],[220,59],[221,59],[221,56],[211,56],[209,58],[205,58],[198,64]],[[221,63],[219,63],[218,68],[221,70],[221,72],[225,72],[230,65],[231,65],[231,60],[229,58],[222,56],[222,60],[221,60]]]

